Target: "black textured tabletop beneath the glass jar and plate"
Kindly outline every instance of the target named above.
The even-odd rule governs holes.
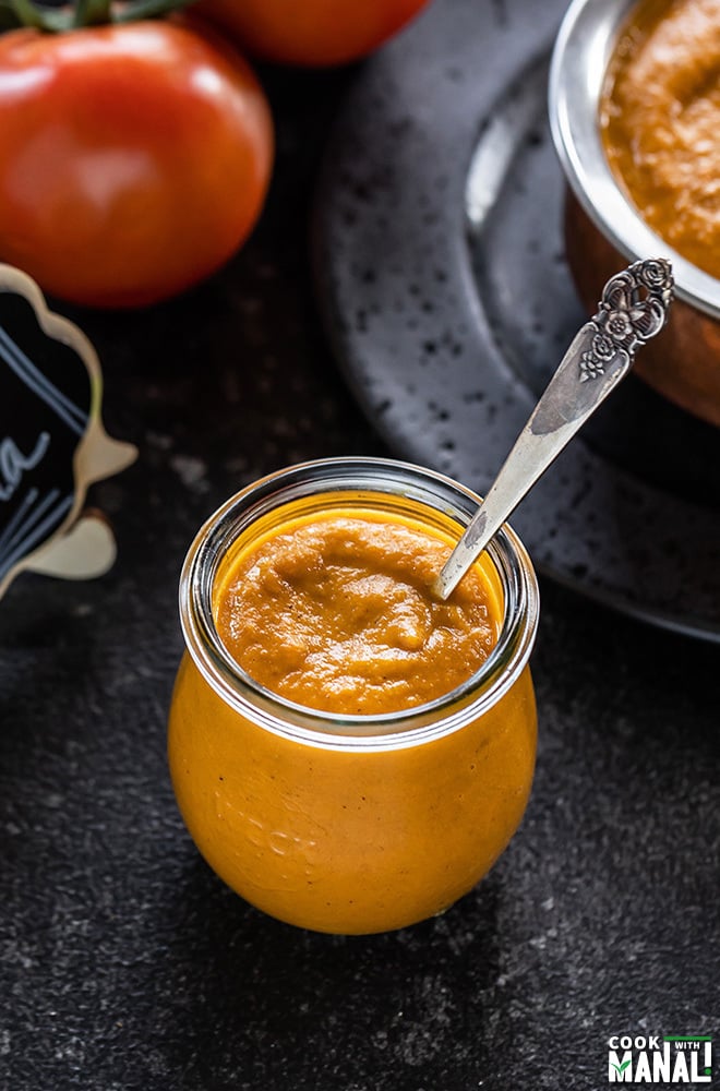
[[[139,463],[112,572],[0,602],[2,1091],[604,1088],[613,1033],[720,1034],[718,649],[542,580],[524,825],[444,916],[329,937],[244,904],[177,813],[165,721],[201,521],[300,458],[386,453],[327,348],[307,228],[356,73],[265,73],[271,200],[212,281],[71,313]],[[717,1072],[717,1063],[715,1066]],[[713,1076],[713,1084],[720,1077]]]

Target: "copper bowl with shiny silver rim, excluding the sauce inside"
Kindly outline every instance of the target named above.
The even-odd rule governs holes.
[[[635,372],[659,394],[720,427],[720,280],[652,231],[612,173],[599,104],[608,62],[635,0],[573,0],[560,27],[549,85],[550,127],[565,177],[565,248],[592,313],[602,286],[627,262],[667,257],[675,302],[663,333],[638,355]]]

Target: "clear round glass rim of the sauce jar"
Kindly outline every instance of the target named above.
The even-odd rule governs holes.
[[[392,712],[338,715],[297,704],[256,682],[220,639],[212,609],[218,564],[254,518],[317,492],[353,491],[419,501],[461,528],[481,503],[465,485],[435,470],[393,458],[339,456],[276,470],[230,496],[203,524],[182,565],[180,622],[187,649],[205,681],[236,711],[267,730],[329,748],[398,748],[430,742],[477,719],[526,666],[538,627],[539,591],[530,558],[505,524],[488,547],[504,613],[497,640],[459,686],[423,705]],[[459,706],[458,706],[458,703]]]

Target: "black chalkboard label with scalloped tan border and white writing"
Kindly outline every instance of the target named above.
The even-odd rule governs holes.
[[[82,505],[92,481],[137,453],[105,432],[100,380],[82,331],[0,264],[0,596],[23,570],[79,578],[112,563],[107,524]]]

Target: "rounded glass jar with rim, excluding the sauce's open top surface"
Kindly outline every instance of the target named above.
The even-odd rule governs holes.
[[[409,711],[313,711],[257,685],[214,622],[238,549],[299,513],[358,507],[458,538],[479,501],[441,475],[372,458],[290,467],[229,500],[182,572],[185,637],[169,718],[178,805],[238,894],[301,927],[371,933],[424,920],[467,894],[527,805],[537,719],[528,658],[538,620],[529,558],[508,527],[483,555],[502,625],[490,658]]]

